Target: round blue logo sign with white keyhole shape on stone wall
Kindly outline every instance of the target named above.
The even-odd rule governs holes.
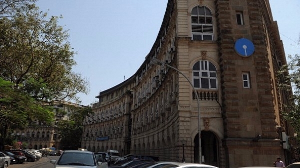
[[[236,52],[242,56],[242,57],[249,57],[254,53],[254,44],[246,39],[246,38],[240,38],[235,43],[235,50]]]

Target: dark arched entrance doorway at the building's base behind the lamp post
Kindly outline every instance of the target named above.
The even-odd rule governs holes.
[[[194,161],[199,163],[198,134],[194,139]],[[216,135],[211,131],[201,131],[202,163],[219,167],[219,142]],[[204,156],[204,157],[203,157]]]

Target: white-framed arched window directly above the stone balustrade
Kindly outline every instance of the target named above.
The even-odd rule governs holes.
[[[193,66],[193,84],[196,88],[217,88],[217,70],[213,63],[201,60]]]

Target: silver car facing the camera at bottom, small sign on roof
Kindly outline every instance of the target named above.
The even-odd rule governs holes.
[[[96,162],[91,151],[64,151],[58,161],[50,160],[54,168],[108,168],[107,163]]]

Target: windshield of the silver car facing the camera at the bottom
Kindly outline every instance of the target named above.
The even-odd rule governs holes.
[[[56,165],[96,166],[92,153],[63,153]]]

